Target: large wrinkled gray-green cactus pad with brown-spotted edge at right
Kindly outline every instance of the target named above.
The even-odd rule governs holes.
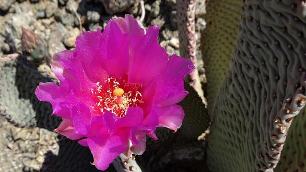
[[[211,171],[273,171],[305,104],[302,1],[244,1],[233,61],[212,114]]]

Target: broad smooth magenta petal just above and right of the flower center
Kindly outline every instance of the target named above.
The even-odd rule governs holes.
[[[142,83],[146,87],[166,67],[168,54],[158,44],[158,31],[158,26],[147,27],[146,35],[131,48],[129,82]]]

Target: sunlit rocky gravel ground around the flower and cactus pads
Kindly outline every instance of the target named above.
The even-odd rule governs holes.
[[[144,1],[145,16],[141,22],[140,1],[130,0],[2,0],[0,3],[0,57],[10,53],[24,53],[21,46],[21,27],[36,33],[44,42],[44,61],[65,49],[73,49],[81,31],[97,30],[115,16],[132,14],[144,27],[160,26],[160,44],[169,54],[179,54],[179,32],[176,25],[175,0]],[[196,9],[196,37],[206,26],[205,1]],[[197,51],[201,57],[200,51]],[[204,73],[198,60],[199,73]],[[204,79],[204,78],[202,78]],[[56,128],[56,126],[55,126]],[[13,126],[0,116],[0,171],[39,171],[44,155],[57,155],[57,134],[52,131]]]

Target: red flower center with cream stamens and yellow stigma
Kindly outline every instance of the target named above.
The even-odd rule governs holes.
[[[105,110],[112,112],[116,117],[124,117],[129,107],[142,104],[142,95],[139,92],[140,83],[129,83],[123,80],[121,83],[110,77],[104,83],[97,82],[97,88],[91,89],[96,106],[93,107],[102,113]]]

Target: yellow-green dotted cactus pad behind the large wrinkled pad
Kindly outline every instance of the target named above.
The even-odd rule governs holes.
[[[211,114],[220,85],[232,60],[237,38],[242,1],[210,0],[207,2],[207,27],[201,36],[202,56],[207,77],[208,111]]]

